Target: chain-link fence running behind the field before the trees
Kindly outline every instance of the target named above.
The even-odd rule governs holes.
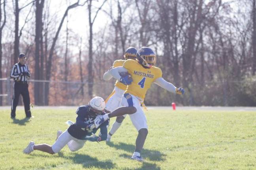
[[[14,81],[8,78],[0,79],[2,92],[0,92],[0,105],[10,105],[13,96]],[[45,85],[49,84],[48,96],[45,94]],[[115,79],[111,81],[94,80],[93,95],[106,99],[114,89]],[[38,86],[39,98],[34,100],[34,87]],[[256,81],[232,81],[232,82],[205,82],[190,83],[185,88],[183,96],[172,94],[158,85],[152,85],[147,91],[146,105],[169,106],[172,102],[178,105],[194,106],[256,106]],[[30,103],[33,105],[51,106],[77,106],[85,105],[90,100],[88,96],[88,82],[79,81],[28,81]],[[48,99],[48,104],[45,98]],[[19,105],[23,105],[20,96]]]

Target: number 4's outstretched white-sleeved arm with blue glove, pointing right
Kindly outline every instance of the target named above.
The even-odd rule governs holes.
[[[164,78],[158,78],[154,81],[154,83],[159,85],[160,87],[168,90],[169,92],[177,93],[177,94],[184,94],[184,89],[182,89],[181,87],[179,87],[179,88],[175,87],[172,83],[169,83]]]

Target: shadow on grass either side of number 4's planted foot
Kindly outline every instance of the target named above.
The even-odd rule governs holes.
[[[126,143],[123,143],[123,142],[119,142],[119,144],[113,144],[113,142],[107,142],[107,145],[112,147],[112,148],[116,148],[118,150],[124,150],[124,151],[131,152],[131,153],[134,152],[134,145],[131,145],[131,144],[126,144]],[[147,157],[151,161],[164,161],[164,160],[166,160],[166,158],[165,158],[166,154],[161,153],[161,152],[156,151],[156,150],[143,149],[141,155],[142,155],[142,157]],[[130,155],[130,157],[131,156],[132,155]]]

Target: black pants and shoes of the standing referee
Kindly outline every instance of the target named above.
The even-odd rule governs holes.
[[[16,112],[16,107],[19,103],[20,94],[23,97],[26,117],[31,117],[28,83],[26,81],[15,81],[13,91],[14,91],[13,92],[13,100],[11,102],[11,117],[15,118],[15,116],[16,116],[15,112]]]

